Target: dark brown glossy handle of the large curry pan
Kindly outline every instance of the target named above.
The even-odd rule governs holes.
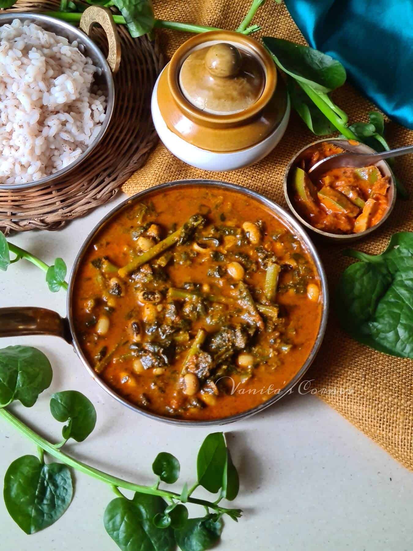
[[[0,308],[0,337],[21,335],[55,335],[72,342],[67,320],[57,312],[31,306]]]

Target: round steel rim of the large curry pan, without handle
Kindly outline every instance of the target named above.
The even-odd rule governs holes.
[[[241,412],[235,415],[230,415],[229,417],[224,417],[220,419],[211,419],[211,420],[174,419],[172,417],[167,417],[166,415],[165,416],[160,415],[160,414],[145,410],[143,408],[140,408],[139,406],[136,406],[135,404],[128,402],[125,398],[118,395],[118,393],[116,393],[115,390],[113,390],[113,388],[108,386],[106,382],[103,379],[101,379],[101,377],[99,377],[96,374],[96,372],[93,370],[93,368],[89,365],[87,358],[85,357],[83,351],[79,346],[78,338],[75,332],[75,327],[73,322],[73,311],[72,311],[72,296],[73,296],[74,280],[75,280],[80,262],[83,258],[84,253],[88,249],[91,240],[93,240],[93,238],[97,235],[97,233],[99,233],[99,231],[102,228],[104,228],[105,224],[111,218],[113,218],[119,212],[121,212],[123,208],[126,208],[128,204],[132,204],[136,201],[142,200],[142,198],[144,198],[147,195],[150,195],[151,193],[156,193],[158,191],[170,189],[173,187],[189,187],[189,186],[197,186],[197,185],[210,186],[210,187],[216,187],[221,189],[225,188],[226,190],[231,190],[231,191],[241,193],[242,195],[247,195],[249,197],[252,197],[253,199],[256,199],[261,204],[264,204],[264,206],[267,206],[268,208],[271,209],[273,213],[278,215],[281,218],[282,222],[290,226],[290,228],[292,228],[295,231],[295,233],[300,237],[300,240],[302,240],[305,243],[307,250],[314,262],[314,266],[316,266],[318,276],[320,279],[321,296],[323,297],[322,313],[321,313],[320,325],[318,328],[316,341],[314,342],[313,348],[311,349],[311,352],[308,354],[308,357],[305,363],[302,365],[300,371],[297,372],[295,377],[293,377],[291,381],[289,381],[289,383],[287,383],[287,385],[284,388],[282,388],[282,390],[278,394],[268,399],[268,401],[262,404],[259,404],[254,408],[248,409],[244,412]],[[216,425],[223,425],[227,423],[233,423],[237,420],[241,420],[246,417],[249,417],[250,415],[254,415],[256,413],[262,412],[263,409],[271,406],[280,398],[285,396],[287,393],[290,393],[292,388],[294,388],[298,384],[298,382],[300,382],[302,377],[305,375],[306,371],[308,370],[309,366],[312,364],[314,358],[317,355],[317,352],[324,338],[325,329],[327,327],[328,309],[329,309],[328,285],[327,285],[327,277],[325,275],[323,264],[320,260],[316,247],[313,245],[313,242],[307,235],[307,232],[303,228],[301,228],[297,220],[295,220],[295,218],[290,213],[288,213],[284,208],[280,207],[279,204],[275,203],[274,201],[271,201],[271,199],[268,199],[267,197],[261,195],[256,191],[249,190],[248,188],[239,186],[234,183],[222,182],[220,180],[205,180],[205,179],[175,180],[172,182],[162,183],[160,185],[151,187],[148,190],[141,191],[132,197],[128,197],[127,199],[119,203],[110,212],[108,212],[104,216],[104,218],[102,218],[100,222],[98,222],[94,226],[94,228],[90,231],[89,235],[86,236],[86,239],[81,245],[79,252],[73,262],[72,271],[70,272],[69,286],[68,286],[68,292],[67,292],[67,317],[69,322],[70,333],[72,334],[72,339],[73,339],[72,344],[75,349],[75,352],[77,353],[84,367],[89,372],[89,374],[93,377],[93,379],[110,396],[115,398],[119,403],[123,404],[129,409],[132,409],[135,412],[138,412],[149,419],[156,419],[161,422],[171,424],[171,425],[177,425],[177,426],[197,426],[198,427],[198,426],[216,426]]]

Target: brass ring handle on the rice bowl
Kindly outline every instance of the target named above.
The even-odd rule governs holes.
[[[95,23],[99,23],[106,33],[109,45],[107,62],[112,73],[115,74],[121,63],[121,41],[119,40],[111,10],[101,6],[90,6],[85,9],[80,19],[80,29],[89,35],[90,29]]]

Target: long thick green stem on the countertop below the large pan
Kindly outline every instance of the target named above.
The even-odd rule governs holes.
[[[159,495],[162,498],[166,498],[166,499],[180,498],[180,494],[177,494],[174,491],[159,490],[149,486],[134,484],[133,482],[128,482],[127,480],[123,480],[122,478],[114,477],[111,474],[105,473],[103,471],[99,471],[99,469],[95,469],[94,467],[90,467],[86,463],[82,463],[81,461],[77,461],[73,459],[73,457],[70,457],[66,453],[56,449],[56,447],[53,446],[53,444],[45,440],[39,434],[35,433],[34,430],[31,430],[26,424],[21,422],[17,417],[15,417],[7,409],[0,408],[0,417],[2,417],[8,423],[14,426],[14,428],[17,429],[21,434],[26,436],[26,438],[34,442],[36,446],[40,447],[42,450],[44,450],[51,456],[55,457],[62,463],[66,464],[69,467],[73,467],[74,469],[77,469],[82,473],[88,474],[90,477],[96,478],[97,480],[100,480],[101,482],[104,482],[105,484],[108,484],[111,487],[124,488],[125,490],[137,491],[140,494]],[[211,509],[214,509],[215,511],[222,514],[225,513],[226,511],[230,511],[230,509],[224,509],[223,507],[219,507],[218,505],[215,505],[210,501],[206,501],[204,499],[188,498],[188,501],[189,503],[210,507]]]

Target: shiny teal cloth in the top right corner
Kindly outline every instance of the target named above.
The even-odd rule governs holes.
[[[308,44],[343,63],[347,79],[413,129],[413,0],[285,0]]]

